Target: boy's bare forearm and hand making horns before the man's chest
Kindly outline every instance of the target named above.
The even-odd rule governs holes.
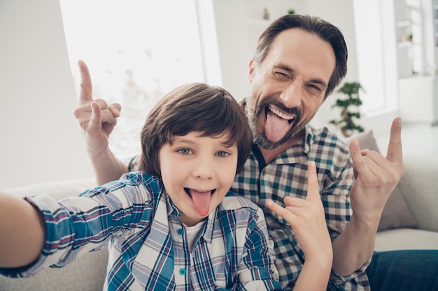
[[[272,200],[267,202],[269,209],[290,223],[306,257],[295,291],[327,290],[333,262],[332,241],[325,222],[314,162],[309,162],[308,177],[305,200],[285,197],[285,208]]]

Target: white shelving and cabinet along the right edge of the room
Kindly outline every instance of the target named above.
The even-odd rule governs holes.
[[[400,117],[438,121],[438,0],[394,0]]]

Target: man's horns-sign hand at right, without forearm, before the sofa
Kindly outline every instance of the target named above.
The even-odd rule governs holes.
[[[388,154],[360,151],[358,140],[350,145],[354,164],[355,183],[350,191],[353,216],[371,222],[376,228],[390,193],[403,175],[402,121],[396,118],[391,126]]]

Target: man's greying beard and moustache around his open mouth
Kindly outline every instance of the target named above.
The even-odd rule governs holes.
[[[262,132],[258,132],[257,130],[257,119],[260,116],[260,114],[267,114],[267,107],[269,105],[275,105],[276,107],[278,107],[279,109],[283,110],[284,112],[287,112],[289,114],[294,114],[295,120],[294,125],[290,128],[290,130],[288,130],[287,133],[285,133],[285,135],[281,138],[281,140],[278,140],[277,142],[271,142],[270,140],[267,139],[265,133],[264,133],[264,128],[262,129]],[[248,107],[249,105],[249,107]],[[258,107],[257,107],[257,112],[255,112],[255,108],[254,106],[257,106],[257,104],[246,104],[246,112],[248,114],[248,122],[250,125],[251,130],[253,131],[253,141],[255,144],[257,144],[258,147],[261,147],[263,149],[276,149],[277,147],[280,147],[281,144],[284,144],[285,142],[287,142],[288,140],[290,140],[290,138],[292,136],[294,136],[295,134],[299,133],[300,130],[302,130],[302,128],[304,128],[303,124],[300,124],[301,121],[301,117],[302,117],[302,112],[299,110],[298,107],[293,107],[293,108],[288,108],[285,107],[285,105],[283,105],[283,103],[279,103],[276,100],[264,100]],[[255,112],[255,113],[253,113]],[[266,116],[265,116],[266,119]]]

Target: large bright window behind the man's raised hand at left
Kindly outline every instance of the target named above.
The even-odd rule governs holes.
[[[111,149],[139,154],[150,108],[179,84],[204,82],[195,0],[60,0],[71,72],[90,68],[94,98],[122,104]]]

